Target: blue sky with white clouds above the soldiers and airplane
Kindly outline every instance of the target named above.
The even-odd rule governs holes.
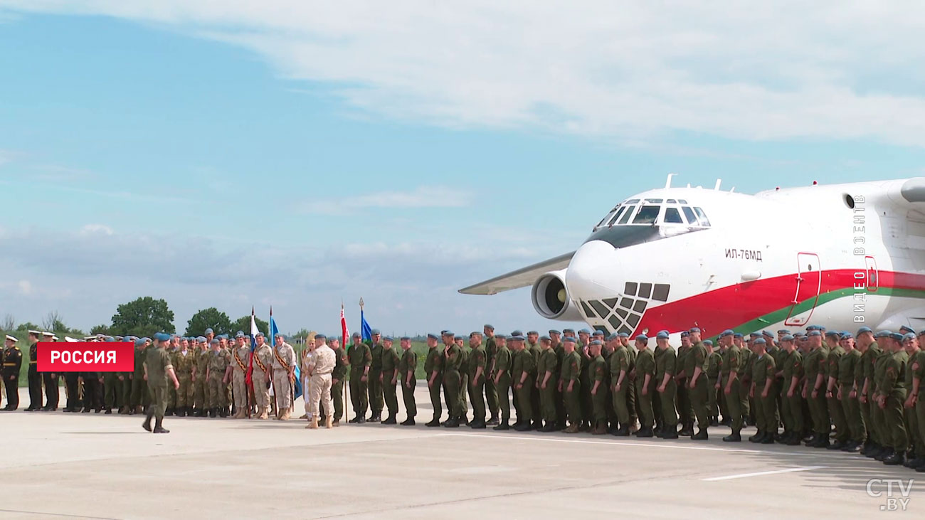
[[[646,3],[271,4],[0,0],[0,313],[90,328],[153,295],[179,330],[252,304],[335,330],[363,296],[397,333],[549,328],[527,289],[455,290],[572,251],[668,172],[925,171],[921,20],[898,11],[775,35],[754,29],[785,9],[695,31]]]

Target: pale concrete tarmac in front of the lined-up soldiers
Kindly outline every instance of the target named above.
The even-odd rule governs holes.
[[[417,402],[416,427],[167,417],[164,435],[138,415],[0,413],[0,518],[925,514],[925,474],[857,454],[731,445],[726,427],[706,442],[428,428],[421,382]]]

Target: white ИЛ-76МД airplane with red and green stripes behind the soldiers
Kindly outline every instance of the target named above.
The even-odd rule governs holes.
[[[673,174],[672,174],[673,175]],[[925,328],[925,178],[642,192],[577,251],[462,289],[533,285],[536,312],[608,332]]]

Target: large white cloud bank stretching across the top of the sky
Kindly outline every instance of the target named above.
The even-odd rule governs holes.
[[[156,22],[391,118],[925,145],[918,2],[0,0]]]

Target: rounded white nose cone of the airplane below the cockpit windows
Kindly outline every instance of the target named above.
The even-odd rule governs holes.
[[[607,298],[613,294],[612,285],[618,266],[614,263],[617,251],[605,241],[588,241],[575,251],[565,273],[565,283],[576,298]]]

